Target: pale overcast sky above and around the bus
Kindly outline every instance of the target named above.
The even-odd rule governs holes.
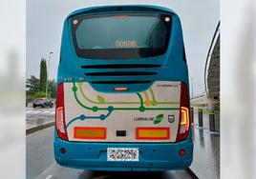
[[[27,0],[26,78],[39,77],[41,58],[49,59],[50,79],[56,79],[62,25],[72,11],[104,5],[157,5],[175,10],[181,18],[190,86],[194,95],[204,92],[204,66],[210,43],[220,20],[219,0]]]

